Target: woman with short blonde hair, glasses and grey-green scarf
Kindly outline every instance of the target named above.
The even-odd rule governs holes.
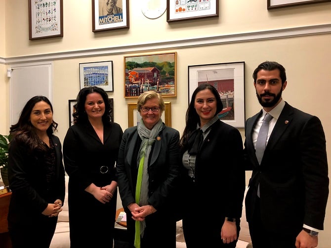
[[[179,132],[162,122],[165,103],[155,91],[139,96],[137,110],[141,120],[124,131],[117,164],[129,247],[175,248]]]

